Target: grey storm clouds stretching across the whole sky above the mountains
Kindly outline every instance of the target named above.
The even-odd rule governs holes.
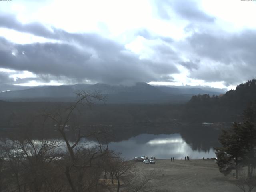
[[[0,68],[28,70],[37,76],[17,79],[18,83],[28,80],[61,80],[72,83],[90,80],[111,84],[172,82],[170,74],[179,72],[176,64],[187,68],[190,78],[206,82],[224,81],[226,85],[230,85],[255,78],[256,31],[216,34],[207,31],[200,23],[212,22],[214,18],[202,12],[193,2],[156,3],[158,8],[166,10],[169,6],[182,18],[191,21],[185,30],[192,31],[192,35],[177,42],[152,34],[146,29],[138,30],[136,35],[159,43],[150,47],[154,51],[153,60],[141,60],[122,44],[98,34],[68,33],[53,27],[47,28],[38,22],[22,24],[14,15],[0,14],[0,27],[62,42],[21,45],[0,38]],[[167,11],[163,15],[168,18]],[[193,30],[194,28],[199,30]],[[186,61],[180,58],[180,54],[186,57]],[[2,75],[0,80],[12,81],[6,75]]]

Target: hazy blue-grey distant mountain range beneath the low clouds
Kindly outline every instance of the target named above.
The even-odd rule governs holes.
[[[24,90],[1,92],[0,99],[9,101],[74,101],[77,90],[98,91],[107,95],[107,103],[184,103],[193,94],[207,93],[202,89],[180,89],[151,86],[136,83],[134,86],[108,84],[75,84],[61,86],[41,86]],[[208,94],[216,94],[208,92]]]

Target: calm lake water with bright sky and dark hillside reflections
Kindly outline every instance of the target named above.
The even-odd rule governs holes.
[[[145,133],[147,132],[147,133]],[[213,147],[218,147],[220,130],[214,127],[188,126],[178,130],[158,130],[156,128],[131,129],[118,132],[118,142],[110,142],[110,150],[121,152],[122,157],[131,160],[136,156],[155,156],[157,159],[202,159],[216,157]],[[54,140],[54,138],[53,138]],[[58,139],[59,140],[59,139]],[[62,149],[65,143],[62,139]],[[81,140],[83,143],[86,140]],[[87,140],[86,147],[97,144],[95,140]]]

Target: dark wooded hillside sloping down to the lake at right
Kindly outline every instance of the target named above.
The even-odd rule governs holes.
[[[224,95],[192,96],[184,108],[182,118],[190,122],[241,121],[242,112],[256,98],[256,79],[239,84],[236,90]]]

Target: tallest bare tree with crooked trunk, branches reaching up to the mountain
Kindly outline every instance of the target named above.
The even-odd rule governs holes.
[[[54,113],[45,114],[45,118],[54,122],[56,130],[62,136],[67,148],[65,175],[72,192],[90,191],[97,186],[98,178],[103,169],[96,166],[97,161],[105,155],[108,148],[104,148],[100,142],[94,146],[86,147],[84,138],[95,136],[101,132],[94,130],[86,132],[85,128],[74,120],[74,114],[78,112],[79,106],[86,105],[91,107],[94,102],[104,100],[98,92],[79,91],[76,92],[77,100],[68,109],[58,109]],[[71,126],[72,124],[72,126]],[[74,142],[70,142],[66,130],[72,131],[75,137]],[[91,174],[93,173],[93,174]],[[93,177],[91,177],[93,175]],[[94,179],[92,179],[94,178]]]

